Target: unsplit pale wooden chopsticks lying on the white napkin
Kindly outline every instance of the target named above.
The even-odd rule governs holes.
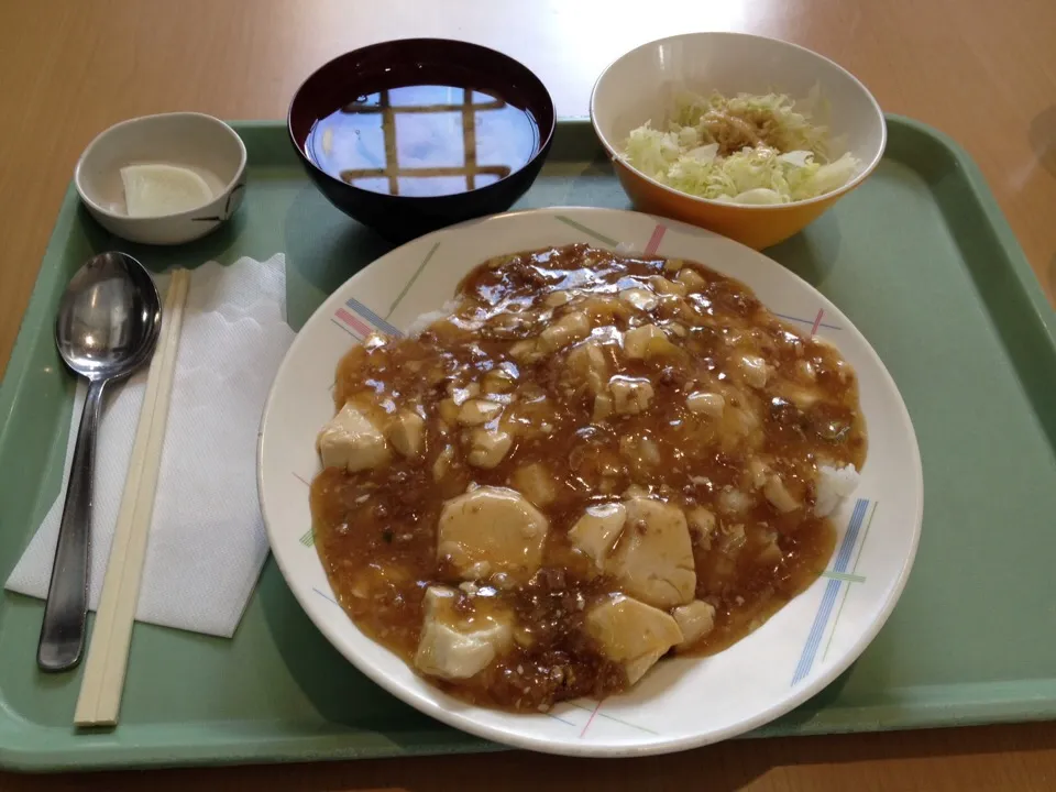
[[[110,560],[85,661],[85,675],[74,714],[74,723],[78,726],[117,724],[121,710],[132,625],[140,600],[176,353],[184,322],[184,302],[189,286],[190,273],[187,270],[173,273],[162,314],[157,349],[146,377]]]

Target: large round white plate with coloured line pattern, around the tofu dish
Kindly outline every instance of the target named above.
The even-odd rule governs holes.
[[[339,359],[371,328],[408,327],[440,308],[491,256],[590,242],[701,262],[752,289],[774,312],[835,343],[858,374],[869,430],[861,485],[835,515],[829,572],[763,627],[711,658],[656,666],[629,693],[515,715],[470,706],[364,637],[334,603],[310,543],[307,482],[315,439],[333,415]],[[383,318],[384,317],[384,318]],[[578,756],[662,754],[761,726],[817,693],[865,650],[899,598],[916,553],[923,480],[916,437],[894,382],[850,320],[816,289],[748,248],[690,226],[607,209],[502,215],[431,233],[356,274],[297,336],[261,424],[261,505],[275,559],[301,607],[356,668],[444,723],[520,748]],[[882,506],[882,508],[880,508]],[[354,706],[354,702],[349,702]]]

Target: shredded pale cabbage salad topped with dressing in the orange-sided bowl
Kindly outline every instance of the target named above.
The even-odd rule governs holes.
[[[832,193],[861,163],[829,160],[828,130],[813,122],[816,92],[801,102],[782,94],[683,94],[667,131],[650,121],[631,131],[626,162],[668,187],[730,204],[789,204]]]

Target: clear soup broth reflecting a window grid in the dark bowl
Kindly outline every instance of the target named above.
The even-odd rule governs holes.
[[[531,112],[457,86],[413,85],[358,97],[308,135],[312,162],[372,193],[442,196],[486,187],[539,148]]]

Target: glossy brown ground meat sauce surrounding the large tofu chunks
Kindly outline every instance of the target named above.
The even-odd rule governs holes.
[[[512,614],[512,645],[469,679],[433,680],[488,706],[547,710],[627,686],[624,667],[583,627],[593,605],[620,591],[569,539],[591,505],[630,491],[714,516],[689,524],[693,594],[715,607],[691,653],[743,638],[824,571],[835,531],[813,516],[816,468],[860,468],[866,453],[856,380],[831,345],[702,265],[586,245],[485,262],[458,296],[452,319],[417,339],[369,340],[338,369],[338,409],[351,403],[377,426],[408,410],[424,419],[416,455],[389,450],[383,464],[331,466],[312,482],[316,547],[364,632],[413,664],[430,585],[458,590],[455,612],[473,613],[481,597],[438,559],[437,525],[444,502],[475,485],[521,492],[549,522],[541,569],[527,582],[475,581],[490,586],[488,607]],[[540,352],[540,333],[572,314],[590,336]],[[648,324],[658,331],[649,352],[631,359],[627,332]],[[601,358],[582,351],[587,343]],[[636,392],[606,414],[590,363],[598,360],[606,378],[646,383],[651,396]],[[700,393],[723,397],[721,418],[689,408]],[[481,436],[461,422],[471,399],[499,405],[476,427],[508,436],[493,466],[471,461],[484,459]],[[779,476],[795,508],[763,495],[759,470]]]

